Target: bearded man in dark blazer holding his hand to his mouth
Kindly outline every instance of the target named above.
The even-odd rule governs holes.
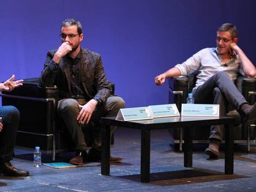
[[[47,53],[40,84],[58,86],[61,99],[58,102],[58,115],[64,120],[77,150],[70,163],[80,165],[84,161],[100,161],[99,121],[103,116],[115,116],[119,109],[124,108],[124,100],[110,96],[112,88],[100,54],[80,46],[83,40],[81,23],[74,19],[64,20],[60,36],[61,46]],[[89,128],[93,131],[93,144],[87,154],[85,133]],[[121,160],[110,157],[111,162]]]

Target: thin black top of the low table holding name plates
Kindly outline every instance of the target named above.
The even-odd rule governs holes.
[[[160,128],[185,128],[185,127],[203,127],[209,125],[227,125],[233,123],[233,117],[194,117],[194,116],[176,116],[163,117],[149,120],[124,121],[116,120],[116,117],[103,117],[103,124],[116,125],[130,128],[148,128],[150,130]]]

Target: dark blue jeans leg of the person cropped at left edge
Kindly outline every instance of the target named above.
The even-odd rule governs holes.
[[[2,131],[0,132],[0,164],[12,160],[20,112],[13,106],[1,106]]]

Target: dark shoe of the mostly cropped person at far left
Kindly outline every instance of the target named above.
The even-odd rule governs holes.
[[[16,169],[10,162],[0,165],[0,174],[14,177],[29,176],[29,172],[27,172],[27,170]]]

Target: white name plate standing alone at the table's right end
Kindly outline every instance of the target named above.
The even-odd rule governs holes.
[[[220,106],[218,104],[182,104],[182,116],[220,116]]]

